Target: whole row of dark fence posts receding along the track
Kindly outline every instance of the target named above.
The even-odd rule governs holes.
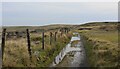
[[[63,33],[68,33],[70,31],[70,29],[62,29],[60,30],[60,37],[63,35]],[[42,32],[42,49],[44,50],[45,49],[45,35],[44,35],[44,31]],[[18,33],[17,33],[18,34]],[[54,35],[54,41],[57,41],[57,34],[58,32],[50,32],[50,35],[49,35],[49,43],[50,45],[52,44],[53,40],[53,35]],[[19,34],[18,34],[19,35]],[[18,36],[17,36],[18,37]],[[28,54],[29,54],[29,58],[31,60],[32,58],[32,49],[31,49],[31,40],[30,40],[30,31],[29,29],[26,29],[26,37],[27,37],[27,46],[28,46]],[[4,57],[4,48],[5,48],[5,40],[6,39],[6,29],[3,29],[2,31],[2,43],[1,43],[1,46],[2,46],[2,60],[3,60],[3,57]]]

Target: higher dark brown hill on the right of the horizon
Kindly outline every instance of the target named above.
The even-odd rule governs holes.
[[[92,22],[78,25],[75,28],[92,28],[94,30],[118,30],[118,22]]]

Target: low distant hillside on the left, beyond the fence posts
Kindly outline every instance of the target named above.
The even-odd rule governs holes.
[[[44,29],[44,30],[56,30],[60,28],[73,28],[75,25],[66,25],[66,24],[54,24],[54,25],[45,25],[45,26],[9,26],[3,27],[6,28],[7,31],[23,31],[25,29],[34,30],[34,29]]]

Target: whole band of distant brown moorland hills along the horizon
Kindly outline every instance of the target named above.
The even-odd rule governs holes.
[[[91,23],[85,23],[82,25],[52,24],[52,25],[45,25],[45,26],[9,26],[9,27],[3,27],[3,28],[6,28],[7,31],[16,31],[16,30],[22,31],[27,28],[30,30],[33,30],[33,29],[57,30],[57,29],[60,29],[63,27],[67,27],[70,29],[79,29],[81,27],[98,28],[101,26],[106,26],[106,27],[114,26],[114,28],[115,28],[115,26],[116,26],[116,28],[117,28],[117,24],[118,24],[117,22],[91,22]]]

